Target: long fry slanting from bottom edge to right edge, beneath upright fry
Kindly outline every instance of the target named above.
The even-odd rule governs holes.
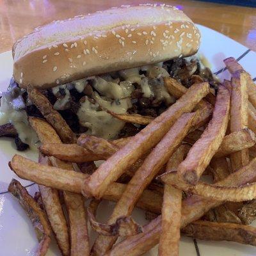
[[[253,159],[248,165],[244,166],[235,173],[216,183],[220,186],[241,186],[251,182],[256,178],[256,159]],[[189,196],[182,201],[182,218],[181,228],[186,227],[189,223],[198,220],[205,212],[213,207],[217,207],[223,202],[203,198],[202,196]],[[161,216],[151,221],[143,227],[144,232],[135,236],[127,237],[124,241],[113,246],[112,250],[106,253],[106,256],[122,256],[124,254],[136,256],[141,255],[159,242],[161,233]]]

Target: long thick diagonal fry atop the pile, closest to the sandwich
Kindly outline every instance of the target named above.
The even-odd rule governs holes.
[[[202,83],[191,86],[175,104],[155,118],[143,130],[111,156],[106,162],[85,180],[84,196],[101,198],[108,185],[117,180],[127,168],[132,166],[145,152],[154,147],[163,138],[173,123],[182,113],[189,112],[209,93],[209,84]]]

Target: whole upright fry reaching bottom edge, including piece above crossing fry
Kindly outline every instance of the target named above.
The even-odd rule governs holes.
[[[180,145],[166,164],[166,170],[177,168],[188,154],[189,148],[189,145]],[[173,186],[164,185],[162,232],[158,255],[179,255],[181,200],[182,191]]]

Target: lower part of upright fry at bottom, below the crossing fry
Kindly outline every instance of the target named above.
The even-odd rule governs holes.
[[[164,185],[159,256],[179,255],[181,200],[182,191],[180,189]]]

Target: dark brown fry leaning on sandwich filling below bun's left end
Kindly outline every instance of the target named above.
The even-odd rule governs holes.
[[[76,136],[62,118],[60,113],[52,108],[51,102],[35,87],[27,87],[28,97],[35,104],[36,108],[40,110],[45,119],[54,127],[61,140],[64,143],[74,143]]]

